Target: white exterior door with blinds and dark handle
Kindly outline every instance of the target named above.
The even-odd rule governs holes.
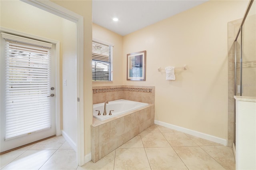
[[[56,134],[54,48],[1,33],[1,152]]]

